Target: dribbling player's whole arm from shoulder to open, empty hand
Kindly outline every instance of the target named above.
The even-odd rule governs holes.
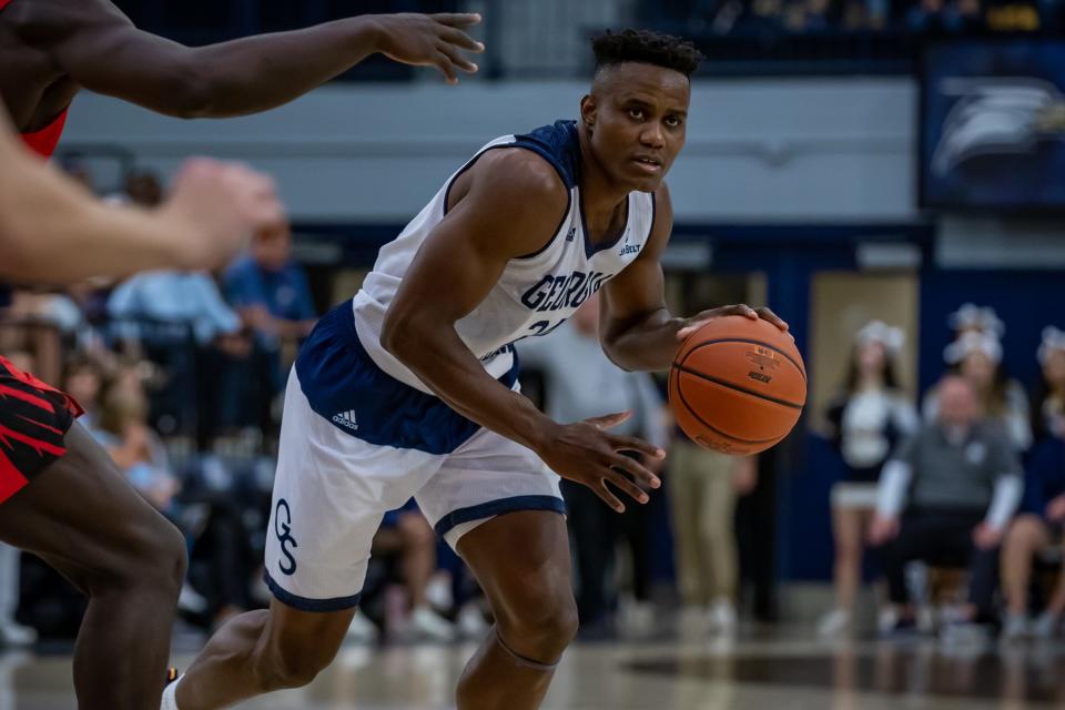
[[[460,199],[422,245],[388,308],[382,345],[453,409],[532,449],[556,473],[587,485],[615,509],[623,506],[607,480],[646,503],[647,494],[632,479],[652,487],[658,479],[619,452],[662,453],[604,430],[627,415],[552,422],[494,379],[455,328],[485,300],[511,258],[534,253],[551,239],[568,206],[565,186],[545,161],[520,149],[490,151],[459,180],[463,184],[453,190]]]

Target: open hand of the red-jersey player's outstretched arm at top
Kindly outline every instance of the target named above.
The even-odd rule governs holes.
[[[436,67],[447,83],[458,83],[458,72],[474,73],[477,64],[463,52],[480,53],[485,45],[466,34],[463,28],[480,22],[476,13],[382,14],[374,16],[378,29],[378,51],[389,59],[415,67]]]

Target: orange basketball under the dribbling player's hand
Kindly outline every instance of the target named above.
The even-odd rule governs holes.
[[[784,438],[807,402],[794,341],[759,318],[710,321],[684,341],[669,371],[677,424],[700,446],[757,454]]]

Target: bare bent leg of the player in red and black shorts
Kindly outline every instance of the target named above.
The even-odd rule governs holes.
[[[0,540],[34,552],[89,596],[74,651],[79,707],[153,707],[185,570],[181,534],[74,424],[67,454],[0,508]]]

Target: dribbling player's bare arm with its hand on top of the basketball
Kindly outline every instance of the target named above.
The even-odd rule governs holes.
[[[666,306],[661,256],[673,230],[673,205],[666,183],[655,195],[651,236],[640,255],[604,286],[600,300],[599,339],[602,349],[625,369],[666,369],[684,338],[704,322],[723,315],[764,318],[781,329],[788,324],[769,308],[738,304],[679,318]]]

